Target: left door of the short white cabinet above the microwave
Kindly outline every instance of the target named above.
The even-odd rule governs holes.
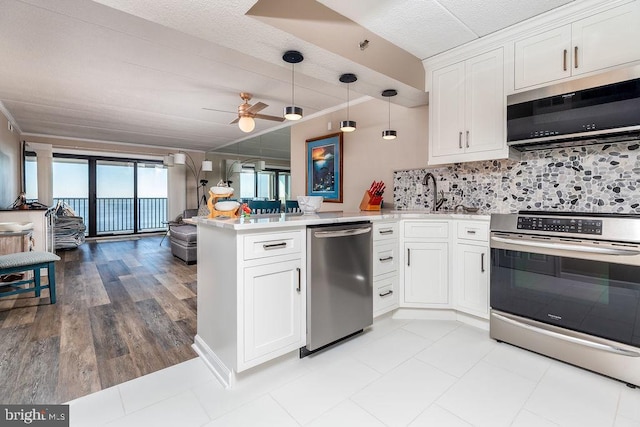
[[[516,89],[571,76],[571,26],[565,25],[515,43]]]

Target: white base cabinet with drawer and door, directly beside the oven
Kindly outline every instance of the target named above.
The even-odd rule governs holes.
[[[453,296],[456,310],[489,318],[489,227],[458,221],[453,250]]]

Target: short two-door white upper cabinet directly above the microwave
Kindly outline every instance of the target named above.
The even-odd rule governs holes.
[[[639,60],[639,20],[635,1],[516,41],[515,89]]]

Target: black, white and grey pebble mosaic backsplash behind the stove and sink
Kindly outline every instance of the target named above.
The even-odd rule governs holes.
[[[522,153],[520,161],[456,163],[394,172],[396,209],[430,209],[435,175],[447,199],[483,213],[518,210],[640,213],[640,141]]]

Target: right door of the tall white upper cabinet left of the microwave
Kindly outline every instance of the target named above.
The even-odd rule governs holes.
[[[467,60],[465,75],[465,152],[499,150],[505,144],[506,123],[502,49]]]

